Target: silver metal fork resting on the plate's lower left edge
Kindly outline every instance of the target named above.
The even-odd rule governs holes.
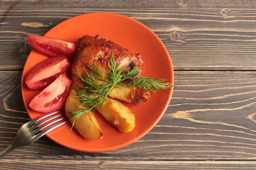
[[[56,114],[56,113],[58,113],[58,114]],[[56,114],[56,115],[52,116],[54,114]],[[38,140],[39,138],[44,136],[49,131],[65,124],[67,121],[66,120],[63,121],[64,117],[53,120],[61,115],[63,115],[63,113],[61,111],[55,111],[52,113],[48,113],[44,116],[38,117],[37,119],[33,119],[33,120],[25,123],[24,125],[22,125],[20,127],[20,129],[18,130],[12,144],[10,144],[9,147],[7,147],[5,150],[3,150],[3,152],[0,153],[0,159],[3,158],[3,156],[5,156],[11,150],[14,150],[16,147],[25,146],[27,144],[32,144],[33,142],[35,142],[36,140]],[[49,117],[49,118],[45,119],[47,117]],[[42,119],[45,119],[45,120],[39,122]],[[51,121],[51,120],[53,120],[53,121]],[[59,122],[59,121],[61,121],[61,122]],[[58,123],[53,125],[56,122],[58,122]],[[35,124],[35,123],[37,123],[37,124]],[[47,123],[47,124],[45,124],[45,123]],[[41,127],[39,127],[39,126],[41,126]]]

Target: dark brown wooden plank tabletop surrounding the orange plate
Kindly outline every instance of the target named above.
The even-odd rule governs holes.
[[[47,137],[17,148],[3,170],[256,169],[256,1],[0,0],[0,151],[29,121],[20,79],[27,34],[79,14],[114,12],[153,30],[175,69],[169,108],[142,139],[84,153]]]

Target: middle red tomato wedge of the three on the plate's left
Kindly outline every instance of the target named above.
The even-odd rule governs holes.
[[[44,89],[70,68],[71,63],[65,56],[46,59],[32,68],[25,79],[26,85],[31,89]]]

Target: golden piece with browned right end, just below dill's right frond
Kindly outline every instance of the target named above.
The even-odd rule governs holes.
[[[122,100],[128,103],[134,103],[138,105],[141,102],[147,101],[148,97],[151,94],[154,94],[155,91],[147,91],[141,87],[115,87],[108,94],[112,99]]]

